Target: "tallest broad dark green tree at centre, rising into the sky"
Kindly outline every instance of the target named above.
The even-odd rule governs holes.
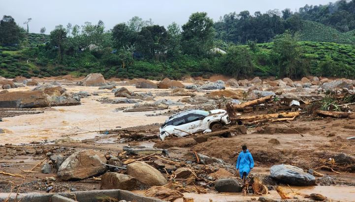
[[[182,46],[186,54],[203,56],[213,48],[213,20],[205,12],[193,13],[182,26]]]

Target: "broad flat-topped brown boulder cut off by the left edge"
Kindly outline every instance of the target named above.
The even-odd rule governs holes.
[[[0,96],[0,108],[49,107],[47,96],[42,91],[15,91]]]

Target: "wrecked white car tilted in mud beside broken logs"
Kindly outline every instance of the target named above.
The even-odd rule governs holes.
[[[208,129],[217,131],[229,123],[226,110],[187,110],[166,119],[160,127],[160,138],[164,140],[171,135],[184,137]]]

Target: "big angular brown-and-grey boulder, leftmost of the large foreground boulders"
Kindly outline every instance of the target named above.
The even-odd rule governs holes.
[[[62,163],[58,170],[58,177],[62,180],[85,179],[97,176],[106,171],[106,158],[103,154],[84,149],[74,152]]]

